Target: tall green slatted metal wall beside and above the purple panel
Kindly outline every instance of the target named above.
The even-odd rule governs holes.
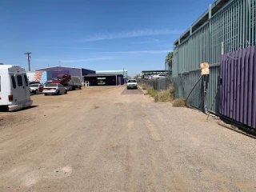
[[[178,98],[188,98],[188,104],[197,106],[198,100],[206,97],[204,105],[214,114],[219,113],[219,75],[222,55],[222,42],[224,54],[234,50],[255,45],[255,0],[230,0],[222,9],[214,15],[209,14],[209,20],[190,35],[178,39],[178,45],[174,45],[173,81]],[[192,26],[191,26],[192,28]],[[210,63],[210,75],[202,78],[203,86],[197,84],[195,79],[201,77],[200,63]],[[186,74],[187,78],[184,77]],[[201,81],[201,80],[200,80]],[[206,91],[202,94],[200,91]],[[203,95],[203,96],[202,96]],[[203,98],[202,98],[203,97]]]

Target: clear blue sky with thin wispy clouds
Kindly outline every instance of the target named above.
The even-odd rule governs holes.
[[[0,62],[31,70],[162,70],[173,42],[214,0],[9,0],[0,6]]]

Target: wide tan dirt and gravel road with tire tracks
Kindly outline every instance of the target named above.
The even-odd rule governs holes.
[[[0,113],[0,191],[256,190],[253,138],[124,88]]]

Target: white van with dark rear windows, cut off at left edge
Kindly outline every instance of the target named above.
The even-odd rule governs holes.
[[[14,111],[31,104],[26,70],[20,66],[0,65],[0,106]]]

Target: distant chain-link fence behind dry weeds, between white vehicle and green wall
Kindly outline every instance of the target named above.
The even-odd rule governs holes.
[[[146,86],[152,87],[154,90],[167,90],[172,83],[170,78],[158,79],[158,80],[146,80],[140,79],[138,81],[140,84],[145,84]]]

